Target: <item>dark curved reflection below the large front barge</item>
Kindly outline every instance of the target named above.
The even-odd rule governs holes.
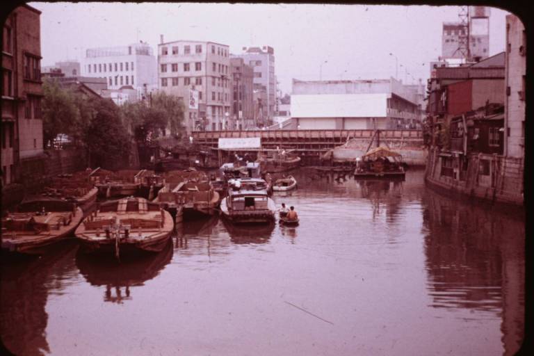
[[[88,254],[78,252],[76,267],[91,285],[106,286],[104,301],[122,303],[131,299],[131,286],[143,286],[146,281],[159,275],[172,259],[173,251],[172,239],[169,239],[161,252],[121,258],[120,261],[107,255],[95,260]]]

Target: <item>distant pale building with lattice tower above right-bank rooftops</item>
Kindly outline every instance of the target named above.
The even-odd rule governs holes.
[[[443,23],[442,58],[478,62],[489,56],[489,8],[465,6],[463,11],[462,21]]]

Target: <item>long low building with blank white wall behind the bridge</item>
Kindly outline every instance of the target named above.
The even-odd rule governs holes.
[[[421,104],[414,86],[395,79],[293,79],[291,118],[300,129],[415,129]]]

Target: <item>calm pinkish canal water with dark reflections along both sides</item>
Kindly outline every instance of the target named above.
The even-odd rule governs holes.
[[[184,223],[115,266],[59,245],[2,261],[17,355],[511,355],[524,325],[524,220],[406,181],[275,193],[300,226]]]

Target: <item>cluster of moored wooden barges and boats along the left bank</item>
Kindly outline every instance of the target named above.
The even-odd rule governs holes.
[[[261,177],[260,169],[259,163],[227,163],[217,177],[195,169],[156,174],[97,168],[61,175],[3,216],[1,248],[42,254],[74,235],[81,251],[120,258],[163,250],[175,223],[195,216],[220,213],[232,224],[274,223],[271,195],[295,188],[296,179],[273,181],[269,174]]]

